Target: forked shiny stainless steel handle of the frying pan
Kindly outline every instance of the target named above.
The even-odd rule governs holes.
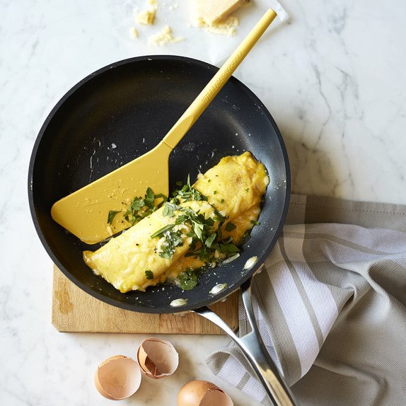
[[[294,400],[294,395],[291,393],[289,386],[284,382],[274,361],[272,361],[272,358],[269,356],[260,336],[251,303],[251,279],[248,279],[248,281],[241,286],[241,291],[245,311],[247,312],[248,321],[252,328],[252,331],[244,337],[238,337],[219,315],[206,306],[195,309],[195,312],[219,326],[221,330],[224,330],[224,332],[236,342],[274,405],[297,406],[298,403]]]

